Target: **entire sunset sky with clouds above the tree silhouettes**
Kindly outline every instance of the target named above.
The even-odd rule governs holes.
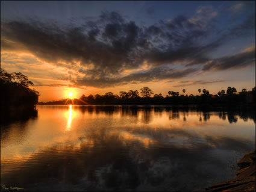
[[[255,86],[255,1],[1,1],[1,67],[39,101]]]

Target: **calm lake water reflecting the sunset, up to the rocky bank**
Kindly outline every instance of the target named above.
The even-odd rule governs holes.
[[[200,191],[236,176],[255,114],[195,107],[37,106],[1,126],[1,186]]]

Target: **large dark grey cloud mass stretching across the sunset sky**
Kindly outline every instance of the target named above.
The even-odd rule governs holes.
[[[195,69],[173,70],[166,65],[206,63],[204,70],[214,65],[220,69],[216,62],[209,64],[213,59],[207,54],[224,39],[241,36],[255,26],[255,18],[249,17],[210,42],[207,38],[214,33],[215,15],[211,8],[202,7],[192,18],[178,16],[151,26],[138,26],[116,12],[103,12],[87,18],[83,25],[69,27],[34,20],[2,22],[2,48],[31,52],[67,70],[68,66],[80,67],[84,76],[77,83],[95,87],[182,78]],[[237,66],[242,66],[242,57],[239,61]],[[151,70],[122,75],[125,70],[140,69],[145,62]]]

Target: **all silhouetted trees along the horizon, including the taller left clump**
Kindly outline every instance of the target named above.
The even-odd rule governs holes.
[[[22,73],[8,73],[0,70],[1,109],[10,107],[34,108],[38,103],[39,92],[29,88],[32,81]],[[255,87],[248,91],[243,88],[237,93],[235,87],[220,90],[217,94],[211,94],[207,89],[198,89],[199,95],[183,94],[177,91],[167,91],[164,97],[161,93],[154,93],[149,87],[138,90],[120,91],[119,95],[112,92],[103,95],[84,94],[78,99],[61,99],[60,101],[39,102],[39,105],[251,105],[255,104]]]

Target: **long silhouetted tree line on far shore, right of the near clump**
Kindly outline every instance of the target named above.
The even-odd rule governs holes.
[[[239,93],[235,87],[220,90],[217,94],[210,94],[207,89],[198,89],[199,95],[187,95],[168,91],[164,97],[161,93],[154,93],[149,87],[138,90],[120,91],[119,95],[112,92],[103,95],[84,94],[79,99],[61,99],[60,101],[39,102],[40,105],[250,105],[255,104],[255,87],[251,91],[243,88]]]

